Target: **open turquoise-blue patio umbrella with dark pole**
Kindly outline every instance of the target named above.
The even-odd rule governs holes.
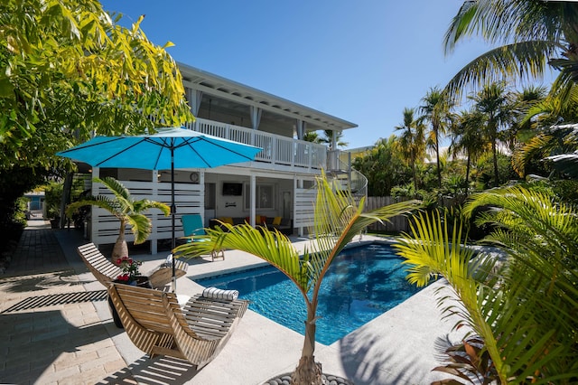
[[[201,134],[183,127],[157,128],[155,134],[96,136],[56,155],[93,167],[171,169],[171,217],[174,249],[174,169],[210,168],[252,161],[261,148]],[[176,287],[172,260],[172,289]]]

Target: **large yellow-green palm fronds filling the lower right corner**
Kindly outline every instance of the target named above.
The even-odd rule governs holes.
[[[459,302],[442,295],[440,304],[460,317],[456,326],[470,326],[473,335],[466,336],[464,346],[471,338],[480,340],[481,352],[489,355],[481,375],[495,376],[499,383],[578,379],[578,216],[552,198],[519,186],[472,195],[466,215],[494,208],[483,211],[476,223],[494,226],[485,240],[501,249],[499,258],[474,251],[461,221],[450,227],[440,212],[417,216],[411,235],[396,244],[411,266],[411,282],[423,286],[438,275],[447,279]],[[451,362],[445,371],[467,376],[466,370],[471,367]]]

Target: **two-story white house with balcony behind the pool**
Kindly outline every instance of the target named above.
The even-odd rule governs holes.
[[[322,169],[340,178],[344,188],[365,193],[367,180],[340,161],[339,151],[300,140],[309,131],[342,131],[357,125],[185,64],[179,67],[191,111],[197,117],[188,128],[263,150],[253,162],[175,171],[177,237],[183,235],[180,217],[192,213],[200,214],[205,227],[213,218],[243,217],[255,224],[256,215],[280,216],[292,221],[294,233],[303,235],[312,226],[312,187]],[[171,201],[168,170],[92,172],[116,177],[135,199]],[[105,194],[107,190],[93,184],[92,193]],[[155,253],[157,240],[171,239],[171,219],[157,211],[149,214],[153,221],[149,239]],[[118,221],[93,207],[88,232],[96,244],[113,243]],[[126,238],[131,237],[127,234]]]

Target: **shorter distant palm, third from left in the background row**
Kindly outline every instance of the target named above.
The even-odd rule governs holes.
[[[452,124],[452,145],[450,149],[453,155],[466,155],[465,195],[468,196],[470,187],[471,162],[475,162],[484,152],[486,142],[481,134],[484,117],[475,111],[461,111],[461,114]]]

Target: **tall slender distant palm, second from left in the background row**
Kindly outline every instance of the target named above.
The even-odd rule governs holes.
[[[419,108],[421,119],[429,122],[431,130],[427,139],[428,145],[435,150],[438,187],[442,188],[442,170],[440,167],[440,140],[446,134],[452,122],[453,103],[447,98],[442,89],[429,89],[422,99],[424,103]]]

